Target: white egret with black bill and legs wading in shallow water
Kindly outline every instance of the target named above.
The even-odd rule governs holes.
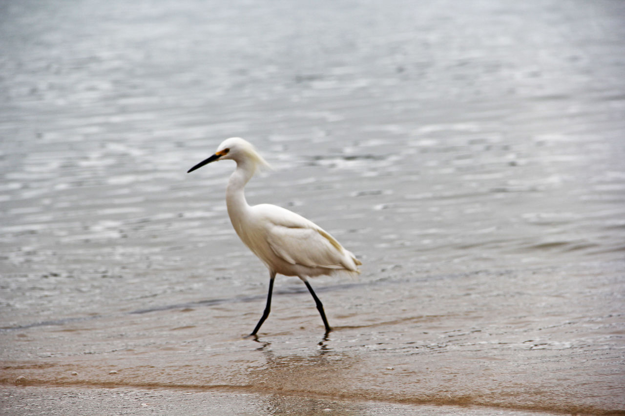
[[[212,156],[193,166],[187,173],[211,162],[225,160],[236,162],[236,169],[226,186],[226,206],[232,227],[269,270],[265,309],[248,336],[257,337],[258,330],[269,316],[276,274],[297,276],[304,282],[321,315],[326,335],[329,334],[332,328],[327,323],[323,304],[308,279],[337,272],[359,274],[358,266],[362,263],[311,220],[276,205],[247,204],[244,187],[259,169],[269,168],[269,164],[251,143],[241,137],[224,140]]]

